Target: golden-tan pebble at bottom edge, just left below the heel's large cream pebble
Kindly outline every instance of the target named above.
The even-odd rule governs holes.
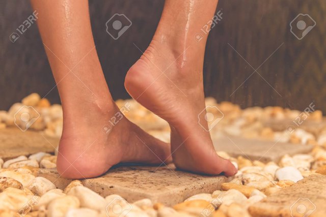
[[[79,207],[78,198],[71,195],[58,197],[56,199],[53,199],[47,205],[47,216],[62,217],[66,214],[69,208],[78,208],[78,207]]]

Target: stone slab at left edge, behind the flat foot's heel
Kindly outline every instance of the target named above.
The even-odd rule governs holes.
[[[54,152],[58,145],[58,138],[49,138],[42,132],[22,132],[18,128],[0,130],[0,158],[4,160],[20,155],[29,156],[39,151]]]

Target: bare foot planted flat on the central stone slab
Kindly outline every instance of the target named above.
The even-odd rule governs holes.
[[[171,162],[170,145],[121,116],[114,102],[92,105],[82,116],[66,113],[57,160],[57,170],[63,177],[99,176],[121,162]],[[112,117],[114,127],[109,122],[113,122]],[[107,132],[110,127],[106,126],[112,129]]]

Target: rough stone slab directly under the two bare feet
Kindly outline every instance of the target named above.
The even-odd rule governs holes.
[[[120,166],[82,182],[103,197],[118,194],[128,202],[149,198],[154,203],[174,205],[195,194],[220,190],[222,183],[231,180],[223,175],[198,175],[176,170],[173,164],[168,166]],[[40,170],[39,175],[62,189],[71,181],[59,177],[53,169]]]

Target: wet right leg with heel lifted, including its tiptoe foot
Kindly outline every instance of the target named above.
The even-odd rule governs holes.
[[[129,94],[171,126],[175,165],[206,174],[234,175],[231,162],[219,157],[210,134],[198,123],[205,109],[203,61],[207,34],[196,33],[212,19],[218,0],[166,0],[156,33],[125,79]],[[204,112],[201,125],[207,126]]]

